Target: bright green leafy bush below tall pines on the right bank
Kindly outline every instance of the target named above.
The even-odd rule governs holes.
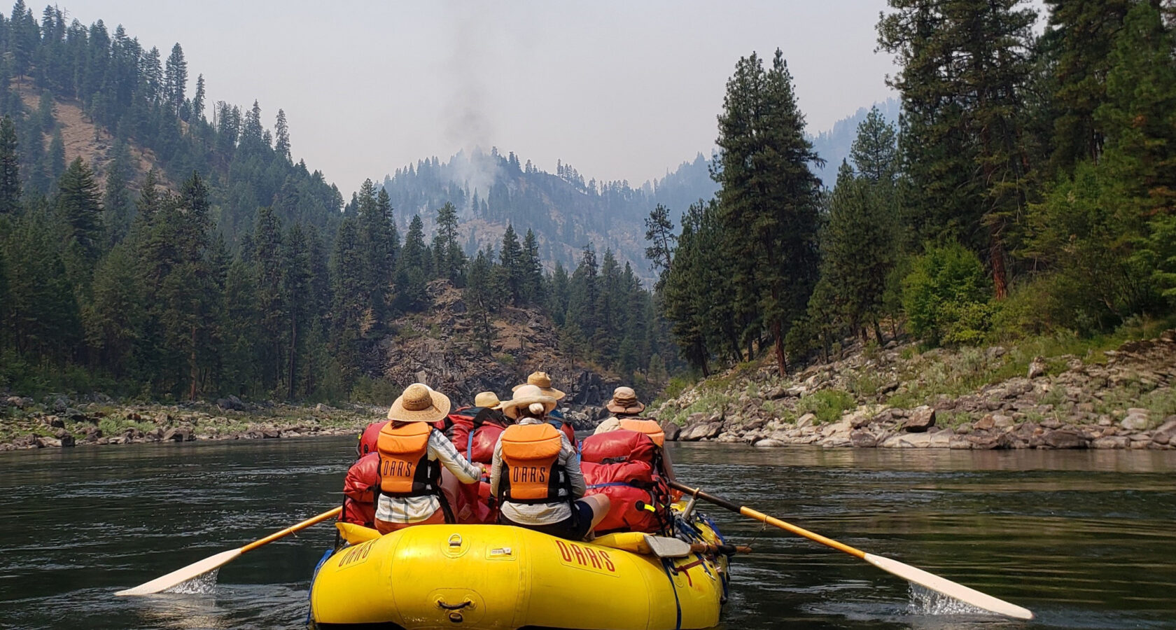
[[[902,281],[902,304],[916,336],[931,344],[977,343],[991,329],[991,283],[960,243],[928,248]]]

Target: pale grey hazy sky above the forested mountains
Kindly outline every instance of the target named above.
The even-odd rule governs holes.
[[[179,41],[189,95],[203,73],[209,103],[256,99],[267,127],[285,109],[294,159],[345,194],[473,146],[637,185],[709,154],[735,61],[776,47],[809,130],[827,129],[893,95],[891,59],[874,53],[884,5],[59,1],[165,59]]]

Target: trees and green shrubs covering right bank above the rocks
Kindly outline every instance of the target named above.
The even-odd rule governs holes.
[[[736,63],[721,189],[686,212],[662,273],[696,370],[770,354],[787,375],[906,334],[920,350],[1015,349],[906,394],[929,398],[1038,355],[1097,360],[1171,317],[1174,15],[1142,0],[1045,5],[1037,34],[1029,2],[893,0],[878,42],[901,66],[902,116],[867,116],[831,189],[807,168],[820,156],[780,52]]]

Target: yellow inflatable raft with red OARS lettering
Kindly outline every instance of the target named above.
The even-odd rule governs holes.
[[[508,525],[419,525],[386,536],[345,528],[347,539],[366,542],[319,567],[310,587],[318,630],[710,628],[726,599],[727,556],[659,558],[642,535],[583,543]],[[721,543],[708,524],[694,529],[695,543]]]

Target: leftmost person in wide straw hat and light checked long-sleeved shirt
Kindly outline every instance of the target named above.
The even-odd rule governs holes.
[[[449,398],[413,383],[388,409],[380,430],[375,529],[388,534],[410,525],[455,522],[441,489],[441,468],[462,483],[475,483],[482,469],[469,463],[432,423],[449,413]]]

